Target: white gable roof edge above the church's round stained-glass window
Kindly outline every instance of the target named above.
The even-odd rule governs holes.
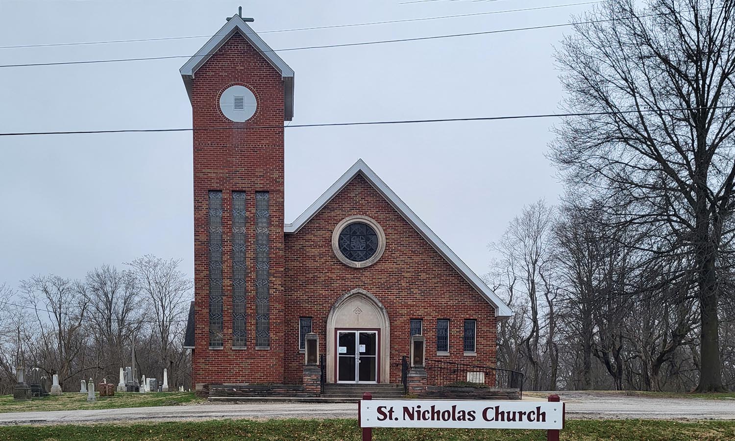
[[[465,262],[462,262],[462,259],[459,259],[459,257],[454,254],[454,251],[452,251],[447,244],[442,242],[439,236],[432,232],[429,226],[426,226],[426,223],[423,223],[416,213],[412,212],[404,201],[401,201],[401,198],[393,193],[393,190],[390,190],[390,187],[388,187],[385,182],[383,182],[378,175],[376,175],[376,173],[370,169],[364,161],[362,161],[362,159],[358,159],[358,161],[355,162],[355,164],[346,171],[340,179],[337,179],[337,182],[334,182],[334,184],[332,184],[322,196],[319,196],[314,204],[301,213],[293,223],[285,224],[284,232],[290,234],[297,233],[302,226],[306,225],[306,223],[309,222],[309,220],[311,220],[311,218],[313,218],[320,209],[328,204],[334,196],[337,196],[337,193],[340,193],[340,191],[358,174],[365,178],[365,180],[368,181],[368,183],[377,190],[386,201],[388,201],[393,209],[395,209],[398,214],[400,214],[408,223],[411,224],[411,226],[414,227],[424,240],[429,242],[429,244],[434,247],[434,249],[437,250],[437,252],[441,254],[442,257],[444,257],[444,259],[446,259],[446,261],[449,262],[449,264],[462,277],[464,277],[465,280],[467,280],[467,282],[485,298],[485,300],[488,301],[488,303],[495,307],[495,317],[506,318],[511,317],[514,314],[509,306],[506,305],[505,302],[503,302],[501,298],[487,286],[487,284],[482,282],[482,279],[480,279],[477,274],[474,273],[467,264],[465,264]]]

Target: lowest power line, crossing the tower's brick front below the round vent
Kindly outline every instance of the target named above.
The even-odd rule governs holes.
[[[78,130],[78,131],[60,131],[60,132],[5,132],[5,133],[0,133],[0,136],[90,135],[90,134],[96,134],[96,133],[200,132],[200,131],[209,131],[209,130],[256,130],[256,129],[295,129],[295,128],[304,128],[304,127],[377,126],[377,125],[392,125],[392,124],[446,123],[446,122],[457,122],[457,121],[503,121],[503,120],[539,119],[539,118],[567,118],[571,116],[627,115],[631,113],[675,112],[675,111],[717,110],[717,109],[735,109],[735,106],[679,107],[679,108],[673,108],[673,109],[621,110],[617,112],[541,113],[541,114],[536,114],[536,115],[503,115],[503,116],[487,116],[487,117],[477,117],[477,118],[436,118],[436,119],[417,119],[417,120],[393,120],[393,121],[356,121],[356,122],[348,122],[348,123],[293,124],[289,126],[283,126],[283,125],[222,126],[222,127],[191,127],[191,128],[172,128],[172,129],[113,129],[113,130]]]

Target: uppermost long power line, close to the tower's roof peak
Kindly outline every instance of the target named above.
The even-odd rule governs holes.
[[[312,26],[312,27],[303,27],[303,28],[292,28],[292,29],[275,29],[275,30],[270,30],[270,31],[261,31],[261,32],[258,32],[258,34],[270,34],[274,32],[310,31],[310,30],[316,30],[316,29],[339,29],[339,28],[354,27],[354,26],[373,26],[376,24],[408,23],[408,22],[413,22],[413,21],[442,20],[445,18],[462,18],[462,17],[474,17],[478,15],[503,14],[503,13],[509,13],[509,12],[527,12],[527,11],[536,11],[536,10],[548,10],[548,9],[556,9],[560,7],[573,7],[573,6],[582,6],[586,4],[598,4],[598,3],[602,3],[602,1],[601,0],[583,1],[581,3],[553,4],[550,6],[526,7],[526,8],[514,9],[514,10],[472,12],[468,14],[456,14],[456,15],[440,15],[438,17],[406,18],[403,20],[370,21],[368,23],[334,24],[330,26]],[[132,39],[132,40],[85,41],[85,42],[79,42],[79,43],[25,44],[25,45],[18,45],[18,46],[0,46],[0,49],[40,48],[40,47],[50,47],[50,46],[82,46],[82,45],[95,45],[95,44],[107,44],[107,43],[137,43],[137,42],[142,42],[142,41],[186,40],[186,39],[191,39],[191,38],[211,38],[211,37],[216,37],[216,36],[218,36],[218,34],[215,34],[215,35],[188,35],[184,37],[137,38],[137,39]]]

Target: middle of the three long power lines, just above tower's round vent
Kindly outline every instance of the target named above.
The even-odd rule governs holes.
[[[601,23],[604,21],[613,21],[612,18],[606,18],[604,20],[593,20],[593,21],[578,21],[574,23],[564,24],[548,24],[545,26],[528,26],[523,28],[513,29],[498,29],[494,31],[481,31],[481,32],[465,32],[462,34],[451,34],[451,35],[431,35],[429,37],[415,37],[415,38],[399,38],[395,40],[378,40],[378,41],[364,41],[362,43],[340,43],[340,44],[329,44],[323,46],[301,46],[295,48],[284,48],[284,49],[271,49],[270,51],[259,51],[260,53],[265,52],[285,52],[285,51],[302,51],[306,49],[329,49],[329,48],[343,48],[347,46],[369,46],[374,44],[384,43],[401,43],[406,41],[420,41],[420,40],[438,40],[440,38],[453,38],[453,37],[469,37],[473,35],[490,35],[490,34],[501,34],[505,32],[518,32],[518,31],[530,31],[534,29],[553,29],[557,27],[576,26],[580,24],[592,24]],[[62,61],[62,62],[35,62],[15,65],[0,65],[0,68],[20,68],[20,67],[31,67],[31,66],[51,66],[51,65],[78,65],[78,64],[92,64],[98,62],[126,62],[126,61],[148,61],[148,60],[170,60],[173,58],[193,58],[193,57],[209,57],[211,54],[202,55],[169,55],[165,57],[137,57],[137,58],[118,58],[114,60],[83,60],[83,61]]]

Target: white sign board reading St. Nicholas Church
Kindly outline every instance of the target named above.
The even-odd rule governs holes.
[[[360,427],[563,429],[564,403],[361,400]]]

